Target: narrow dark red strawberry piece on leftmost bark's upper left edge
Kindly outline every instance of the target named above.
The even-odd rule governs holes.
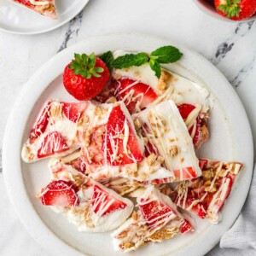
[[[33,143],[37,137],[44,133],[46,127],[49,123],[49,110],[50,110],[50,103],[47,102],[42,113],[40,114],[36,125],[34,125],[32,131],[30,132],[29,142]]]

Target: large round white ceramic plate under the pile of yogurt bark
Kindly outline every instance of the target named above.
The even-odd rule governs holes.
[[[10,199],[28,232],[53,255],[124,254],[113,251],[109,233],[80,233],[73,224],[67,223],[65,218],[42,206],[36,199],[35,194],[49,182],[48,160],[30,165],[23,163],[20,159],[20,148],[39,109],[49,98],[73,100],[63,89],[61,73],[73,58],[74,52],[94,51],[101,54],[109,49],[150,52],[168,44],[181,49],[183,59],[166,67],[202,86],[207,86],[212,93],[214,107],[210,119],[211,138],[203,145],[199,154],[217,160],[241,161],[246,167],[224,206],[224,218],[220,224],[212,225],[207,220],[195,218],[196,229],[193,234],[148,245],[131,254],[205,254],[219,241],[241,212],[253,171],[253,139],[244,108],[227,79],[201,55],[164,39],[137,34],[89,38],[55,55],[27,82],[15,102],[3,142],[3,173]]]

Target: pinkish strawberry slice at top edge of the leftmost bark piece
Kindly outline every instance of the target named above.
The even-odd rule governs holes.
[[[67,119],[70,119],[74,123],[80,119],[85,107],[86,103],[83,102],[62,102],[63,113],[66,115]]]

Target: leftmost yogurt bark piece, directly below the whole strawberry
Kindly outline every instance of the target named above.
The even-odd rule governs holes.
[[[22,159],[34,162],[71,154],[81,147],[84,124],[90,129],[106,124],[111,108],[97,102],[47,102],[22,148]]]

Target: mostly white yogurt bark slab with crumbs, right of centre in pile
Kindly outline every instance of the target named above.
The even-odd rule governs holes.
[[[174,102],[161,102],[132,117],[140,124],[141,137],[147,138],[146,154],[160,155],[162,166],[173,173],[172,179],[164,182],[201,176],[192,139]]]

